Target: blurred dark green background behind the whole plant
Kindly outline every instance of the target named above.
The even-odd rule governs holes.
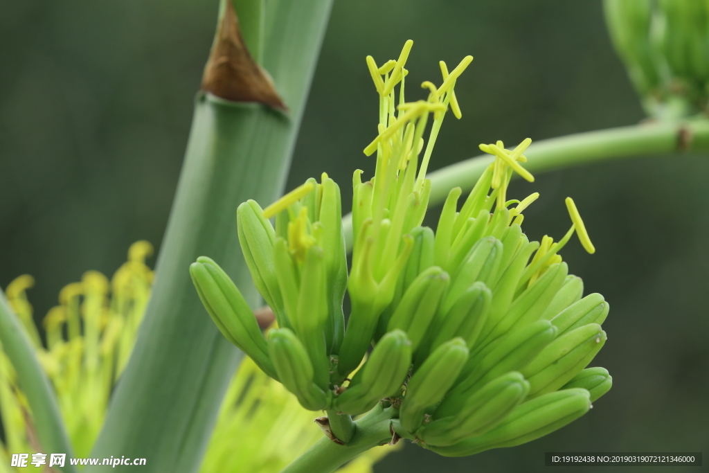
[[[217,4],[0,0],[0,285],[33,274],[38,315],[87,269],[112,274],[133,241],[160,246]],[[440,59],[475,57],[456,89],[463,119],[447,118],[434,169],[479,154],[478,143],[643,119],[600,1],[337,0],[289,187],[323,171],[343,189],[355,168],[372,175],[362,148],[377,101],[364,56],[395,58],[409,38],[408,84],[440,82]],[[610,301],[609,341],[593,365],[610,370],[613,389],[581,420],[522,447],[445,459],[406,445],[376,471],[532,472],[546,469],[545,451],[706,449],[708,176],[705,156],[681,155],[515,182],[510,196],[542,194],[526,212],[530,238],[564,234],[567,195],[584,216],[596,255],[574,243],[564,257],[586,292]]]

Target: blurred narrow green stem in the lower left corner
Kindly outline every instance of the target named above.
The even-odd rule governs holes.
[[[1,291],[0,345],[15,368],[18,384],[27,396],[34,427],[43,451],[66,453],[67,457],[73,457],[72,446],[69,444],[62,422],[54,389],[40,366],[25,330]],[[61,469],[64,472],[76,471],[68,461]]]

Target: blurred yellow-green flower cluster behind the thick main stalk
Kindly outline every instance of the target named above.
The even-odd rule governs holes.
[[[145,259],[151,253],[149,243],[137,242],[128,251],[128,262],[110,282],[91,271],[81,282],[65,286],[60,305],[44,318],[46,345],[26,295],[32,277],[18,277],[7,287],[9,302],[55,389],[77,457],[90,455],[111,391],[133,349],[150,298],[153,273]],[[0,472],[23,471],[9,466],[12,453],[45,450],[38,443],[26,396],[1,346],[0,419],[4,432]],[[200,471],[279,472],[320,436],[311,412],[247,358],[229,384]],[[369,473],[372,464],[389,450],[372,450],[342,471]]]

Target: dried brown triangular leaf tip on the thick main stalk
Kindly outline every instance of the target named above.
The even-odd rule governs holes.
[[[259,102],[285,110],[271,78],[246,48],[234,6],[231,1],[225,3],[226,10],[204,67],[202,89],[220,99]]]

